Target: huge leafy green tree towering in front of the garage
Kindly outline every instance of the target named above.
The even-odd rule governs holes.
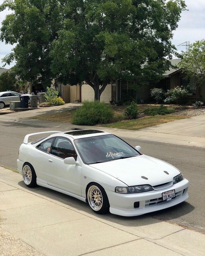
[[[6,0],[13,14],[1,40],[17,43],[4,58],[16,60],[22,79],[45,85],[86,81],[99,100],[113,79],[157,81],[177,55],[171,43],[183,0]]]

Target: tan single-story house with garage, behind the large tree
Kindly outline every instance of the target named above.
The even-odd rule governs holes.
[[[172,65],[177,66],[180,62],[180,59],[170,60]],[[151,99],[150,89],[153,87],[162,88],[164,90],[172,89],[176,86],[188,86],[189,102],[195,101],[205,101],[205,84],[202,86],[197,86],[196,81],[192,79],[186,79],[186,75],[181,71],[180,68],[170,68],[163,74],[163,78],[157,84],[153,84],[152,87],[140,87],[137,91],[131,89],[134,85],[134,82],[130,83],[122,79],[113,80],[112,84],[108,84],[101,94],[100,100],[105,103],[110,101],[123,102],[136,99],[138,103],[143,103]],[[33,90],[36,92],[43,90],[41,85],[36,85],[38,87],[33,87]],[[86,100],[94,100],[94,90],[91,86],[84,82],[82,86],[77,84],[76,86],[64,85],[58,83],[53,79],[51,87],[58,88],[59,96],[61,96],[66,103],[69,102],[83,102]],[[32,92],[32,88],[29,93]]]

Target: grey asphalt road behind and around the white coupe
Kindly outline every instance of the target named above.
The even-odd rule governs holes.
[[[52,128],[0,122],[0,165],[16,169],[18,148],[24,136],[28,133],[49,130]],[[189,198],[186,202],[147,215],[205,232],[205,149],[138,139],[123,139],[133,146],[140,145],[142,153],[174,165],[190,182]],[[116,217],[111,217],[113,221],[114,218]],[[140,222],[141,218],[146,218],[146,215],[133,217],[133,221]]]

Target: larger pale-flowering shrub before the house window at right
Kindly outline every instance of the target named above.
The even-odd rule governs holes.
[[[188,91],[182,87],[175,87],[174,89],[167,90],[165,103],[183,104],[186,101]]]

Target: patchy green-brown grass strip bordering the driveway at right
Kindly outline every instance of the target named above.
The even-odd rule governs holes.
[[[157,115],[157,116],[145,116],[142,118],[128,120],[128,121],[121,121],[117,123],[111,123],[106,125],[101,125],[103,127],[110,127],[110,128],[119,128],[119,129],[127,129],[127,130],[139,130],[142,128],[160,125],[163,123],[168,123],[171,121],[179,120],[188,118],[191,116],[178,116],[178,115]]]

